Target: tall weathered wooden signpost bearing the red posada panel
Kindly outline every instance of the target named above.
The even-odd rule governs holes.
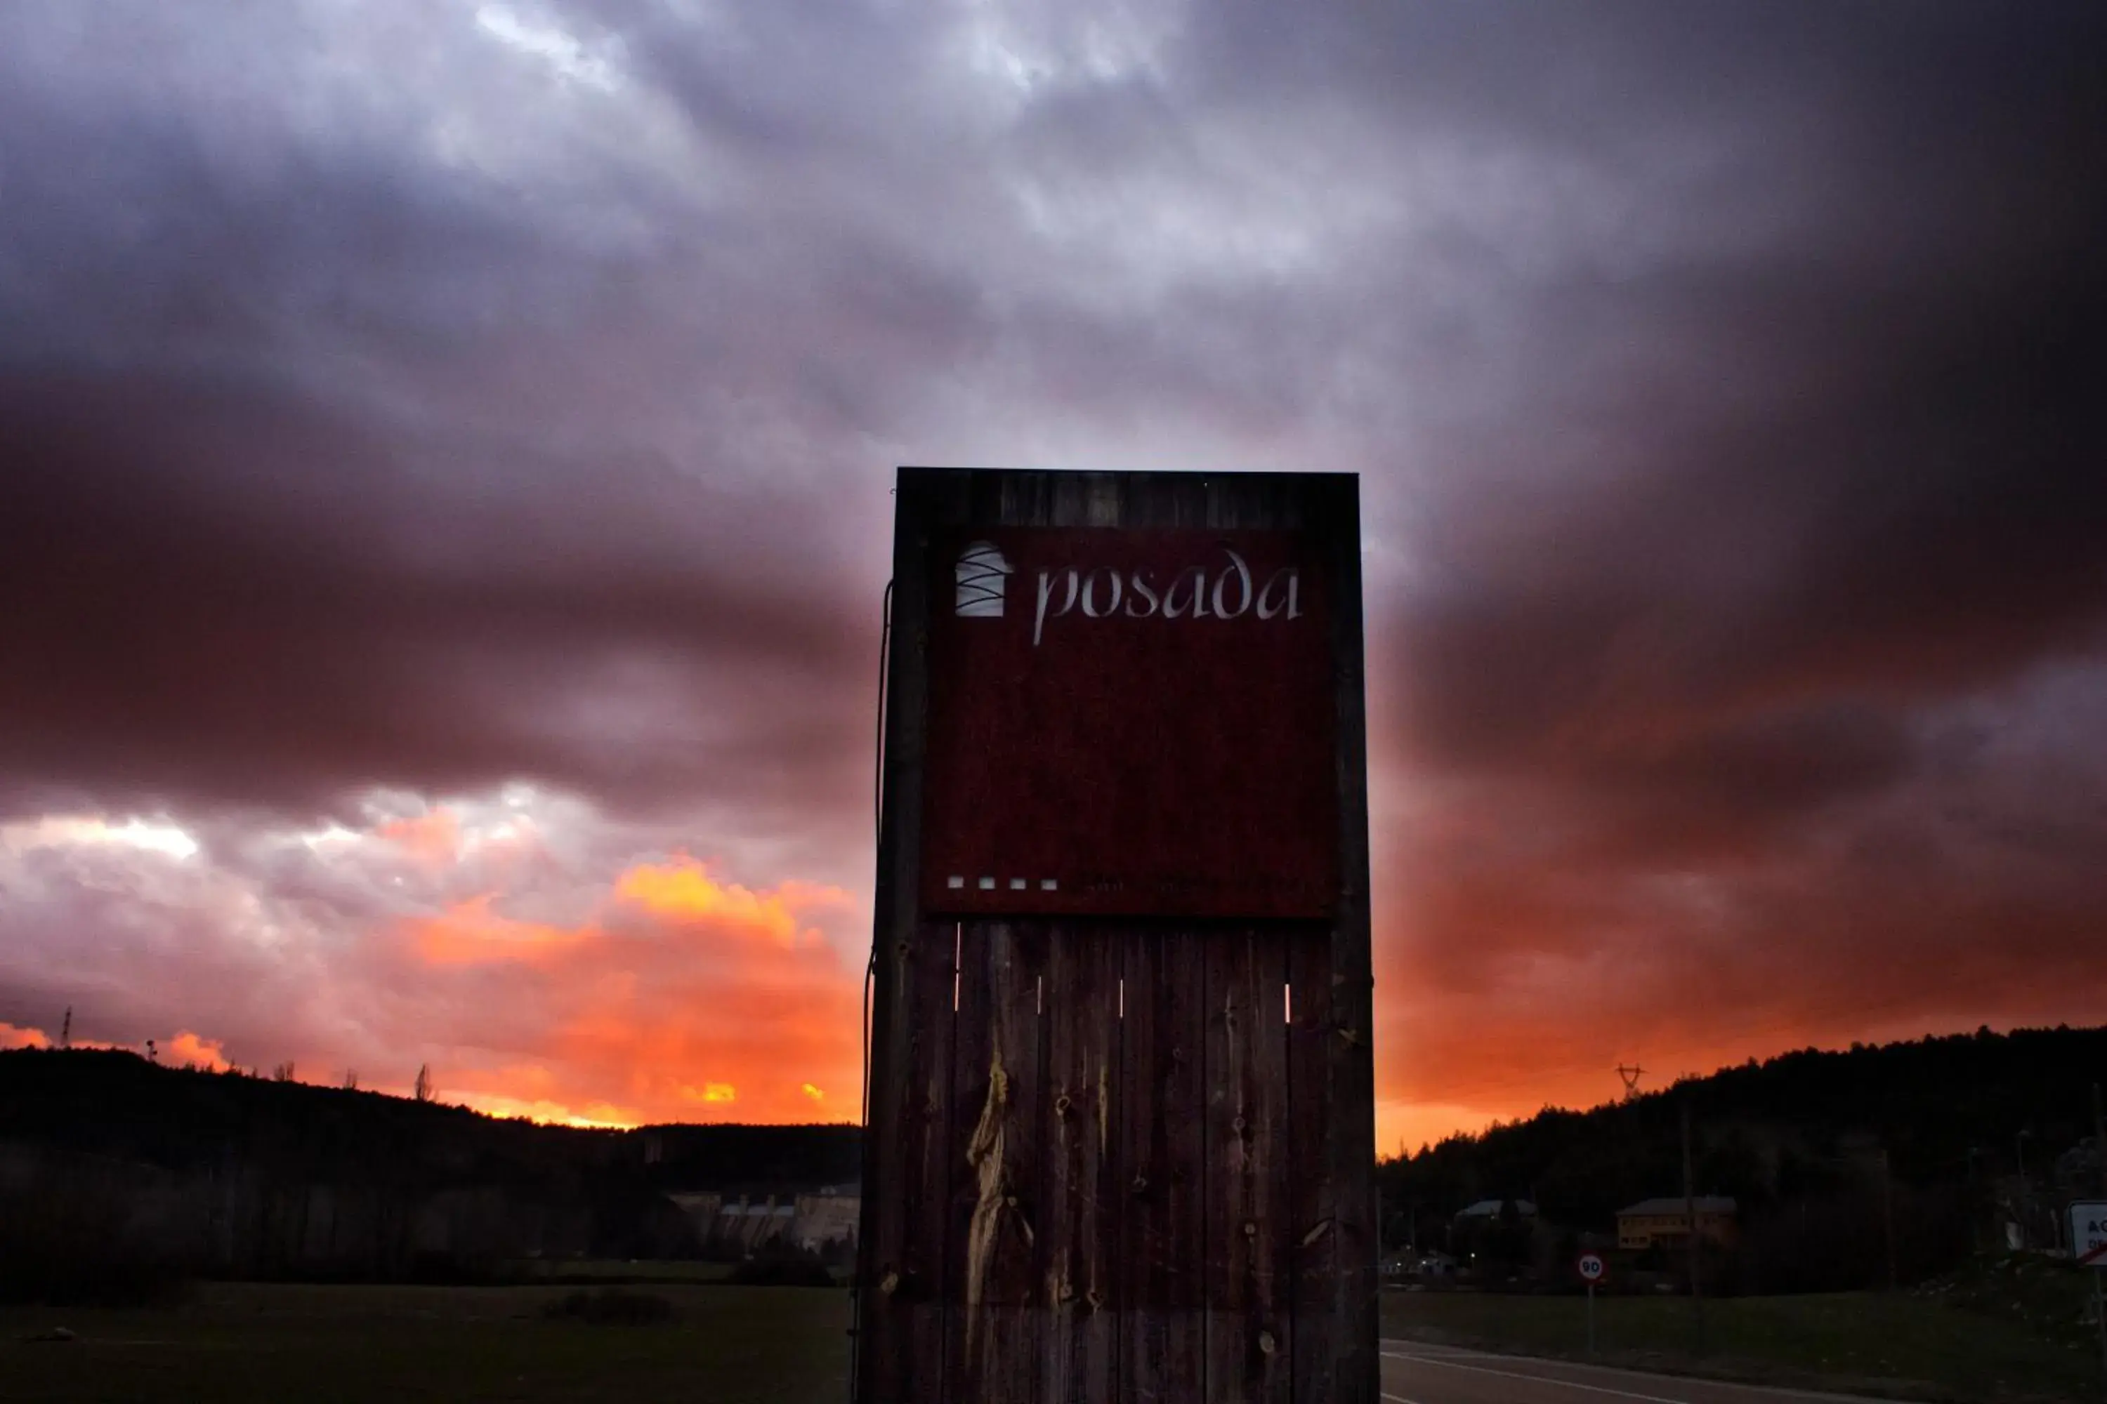
[[[864,1404],[1374,1404],[1359,486],[900,472]]]

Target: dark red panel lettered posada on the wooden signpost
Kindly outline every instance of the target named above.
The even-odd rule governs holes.
[[[1289,530],[931,543],[923,907],[1323,918],[1327,570]]]

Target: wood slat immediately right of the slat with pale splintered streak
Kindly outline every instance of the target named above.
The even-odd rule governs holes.
[[[1119,1040],[1121,937],[1102,922],[1051,930],[1041,1019],[1047,1027],[1041,1095],[1045,1196],[1047,1404],[1100,1404],[1119,1349],[1119,1137],[1112,1109],[1125,1074]]]

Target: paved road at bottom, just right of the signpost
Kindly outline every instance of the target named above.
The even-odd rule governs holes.
[[[1389,1404],[1810,1404],[1846,1396],[1384,1341],[1382,1398]]]

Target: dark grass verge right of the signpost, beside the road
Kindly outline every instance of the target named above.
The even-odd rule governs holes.
[[[1905,1400],[2099,1400],[2090,1328],[2025,1320],[1911,1292],[1736,1297],[1705,1303],[1696,1353],[1681,1297],[1601,1297],[1601,1360],[1675,1372],[1795,1383]],[[2071,1297],[2071,1324],[2080,1301]],[[1587,1358],[1582,1297],[1384,1292],[1382,1335],[1532,1356]]]

